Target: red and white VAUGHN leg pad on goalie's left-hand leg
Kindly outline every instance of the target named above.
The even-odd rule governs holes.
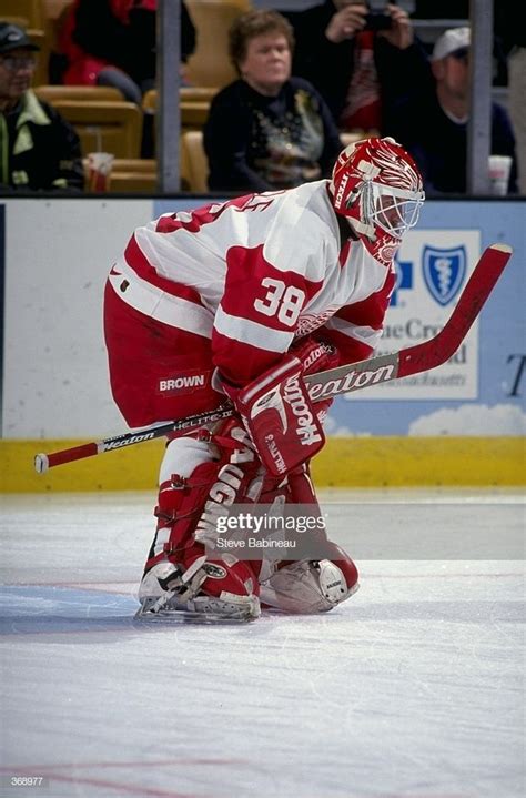
[[[211,603],[201,600],[208,597],[214,612],[223,607],[229,616],[256,617],[259,584],[250,563],[230,554],[210,559],[204,548],[213,533],[213,509],[222,503],[249,502],[257,493],[260,464],[240,443],[239,432],[246,437],[239,422],[227,422],[221,435],[210,435],[206,444],[192,438],[170,444],[170,464],[178,463],[186,473],[193,469],[189,476],[172,474],[161,484],[158,528],[139,589],[143,609],[158,612],[170,603],[172,609],[212,612]],[[165,462],[161,474],[166,475]]]

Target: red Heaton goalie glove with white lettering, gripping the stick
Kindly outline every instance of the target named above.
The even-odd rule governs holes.
[[[285,476],[323,447],[321,408],[314,407],[303,375],[334,365],[335,358],[332,346],[306,341],[245,387],[222,383],[270,474]]]

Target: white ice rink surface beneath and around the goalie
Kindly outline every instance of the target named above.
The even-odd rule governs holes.
[[[471,558],[376,552],[323,616],[148,624],[151,495],[4,496],[0,797],[522,798],[524,562],[476,558],[484,532],[524,532],[520,497],[323,499],[351,554],[424,519]]]

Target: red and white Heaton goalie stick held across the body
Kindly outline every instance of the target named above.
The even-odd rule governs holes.
[[[458,302],[441,332],[428,341],[399,350],[393,354],[370,357],[358,363],[348,363],[326,372],[304,377],[311,398],[316,402],[341,393],[360,391],[368,385],[378,385],[399,380],[409,374],[426,372],[452,357],[467,335],[495,283],[504,271],[513,250],[507,244],[492,244],[476,264]],[[99,442],[85,443],[51,454],[37,454],[34,468],[44,474],[49,468],[73,463],[104,452],[112,452],[135,443],[153,441],[173,432],[185,433],[203,424],[210,424],[233,414],[231,405],[222,405],[210,413],[200,413],[180,421],[156,424],[144,430],[114,435]]]

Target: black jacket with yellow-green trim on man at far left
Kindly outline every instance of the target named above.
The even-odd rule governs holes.
[[[27,91],[0,114],[0,191],[82,191],[75,131],[51,105]]]

